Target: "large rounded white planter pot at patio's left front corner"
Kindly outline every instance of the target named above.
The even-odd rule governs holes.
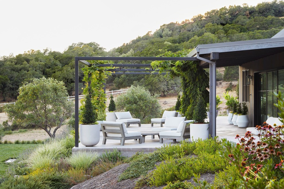
[[[100,125],[79,125],[79,139],[84,146],[94,146],[100,141]]]

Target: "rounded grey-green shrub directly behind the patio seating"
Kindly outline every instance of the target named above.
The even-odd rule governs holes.
[[[126,93],[120,94],[116,98],[116,109],[130,111],[141,123],[150,123],[151,118],[159,117],[161,112],[157,98],[140,86],[131,86]]]

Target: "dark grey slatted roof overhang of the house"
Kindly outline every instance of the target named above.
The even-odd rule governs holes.
[[[219,52],[217,67],[242,65],[284,51],[284,38],[270,38],[226,43],[198,45],[188,57],[200,57],[210,60],[212,52]],[[207,64],[202,64],[207,67]]]

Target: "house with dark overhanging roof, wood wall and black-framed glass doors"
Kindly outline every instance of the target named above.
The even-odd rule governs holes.
[[[216,67],[239,66],[239,100],[248,105],[249,127],[278,117],[273,92],[284,93],[284,29],[270,39],[198,45],[188,57],[202,60],[204,68],[210,61]]]

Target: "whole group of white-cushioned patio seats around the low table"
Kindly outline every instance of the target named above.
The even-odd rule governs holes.
[[[176,111],[164,111],[162,118],[151,119],[151,126],[154,123],[160,124],[160,127],[153,127],[149,132],[127,131],[130,124],[138,124],[141,127],[140,119],[132,118],[130,112],[107,112],[106,121],[101,123],[103,132],[103,144],[107,139],[120,140],[120,145],[124,145],[125,140],[139,139],[139,143],[145,142],[145,136],[151,135],[152,138],[158,135],[160,143],[163,139],[185,140],[190,138],[189,124],[193,120],[185,120]],[[164,124],[164,127],[163,127]]]

